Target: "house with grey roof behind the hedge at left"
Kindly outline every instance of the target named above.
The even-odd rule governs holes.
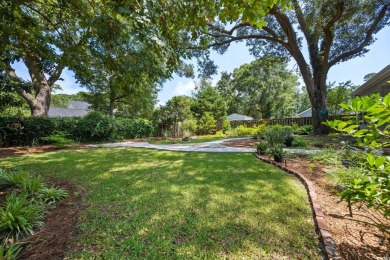
[[[84,101],[69,100],[66,108],[50,107],[47,115],[48,117],[82,117],[91,111],[90,106]]]

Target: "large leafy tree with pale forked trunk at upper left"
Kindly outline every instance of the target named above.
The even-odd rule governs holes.
[[[182,37],[166,28],[160,17],[164,3],[154,1],[2,1],[0,3],[0,67],[17,79],[13,65],[23,62],[33,88],[16,91],[33,116],[47,115],[54,83],[64,68],[77,77],[90,76],[89,52],[140,43],[172,72],[180,65]],[[174,6],[169,12],[174,11]],[[124,36],[127,36],[124,37]],[[136,47],[138,47],[137,45]],[[114,57],[116,59],[120,56]]]

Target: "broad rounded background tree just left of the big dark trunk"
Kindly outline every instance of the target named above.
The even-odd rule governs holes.
[[[286,61],[267,57],[235,69],[232,85],[240,112],[255,118],[292,116],[298,77],[286,67]]]

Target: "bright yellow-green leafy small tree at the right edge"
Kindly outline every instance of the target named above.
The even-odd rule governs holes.
[[[340,106],[356,116],[347,117],[346,121],[327,121],[325,125],[356,137],[359,145],[366,148],[365,174],[347,184],[341,198],[349,204],[366,202],[368,207],[387,218],[390,215],[390,157],[377,151],[390,145],[390,94],[383,98],[378,94],[355,97],[350,104]],[[367,127],[359,129],[361,121],[366,122]],[[384,230],[383,226],[377,226]]]

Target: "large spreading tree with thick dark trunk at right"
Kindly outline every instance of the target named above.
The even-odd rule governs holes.
[[[321,122],[328,115],[328,72],[332,66],[368,52],[374,35],[389,24],[388,1],[292,0],[291,10],[275,5],[262,15],[265,13],[255,10],[250,17],[237,17],[231,28],[223,20],[209,23],[207,30],[199,32],[206,43],[202,46],[223,53],[231,42],[246,40],[256,57],[293,57],[309,94],[315,133],[326,133]],[[250,19],[253,17],[265,17],[266,25],[259,27]]]

